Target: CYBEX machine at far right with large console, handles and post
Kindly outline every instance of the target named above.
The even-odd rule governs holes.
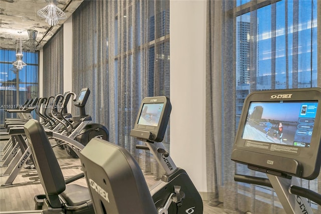
[[[231,159],[266,173],[268,179],[240,174],[234,179],[272,187],[286,213],[312,213],[307,199],[321,204],[321,196],[299,186],[297,178],[312,180],[319,174],[320,130],[321,89],[251,93],[244,102]]]

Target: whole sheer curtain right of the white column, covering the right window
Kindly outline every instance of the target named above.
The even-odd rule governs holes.
[[[228,213],[284,213],[273,189],[238,183],[262,176],[230,160],[245,97],[255,90],[321,87],[319,1],[208,1],[206,147],[210,204]],[[306,13],[308,12],[308,13]],[[217,111],[218,103],[221,103]],[[264,175],[263,175],[264,176]],[[320,176],[300,180],[314,191]],[[316,213],[321,213],[311,203]],[[264,210],[264,211],[262,211]]]

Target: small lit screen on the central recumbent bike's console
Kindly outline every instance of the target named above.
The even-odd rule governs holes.
[[[164,103],[145,103],[138,119],[139,125],[158,126]]]

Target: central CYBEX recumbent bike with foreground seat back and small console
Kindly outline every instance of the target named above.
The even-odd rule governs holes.
[[[93,138],[80,153],[96,213],[203,213],[202,198],[184,169],[178,168],[163,143],[170,118],[167,97],[143,99],[130,135],[144,141],[165,169],[148,189],[135,159],[123,147]]]

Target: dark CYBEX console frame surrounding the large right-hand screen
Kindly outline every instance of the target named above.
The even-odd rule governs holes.
[[[295,147],[282,145],[284,150],[270,150],[260,148],[262,141],[243,139],[243,130],[246,124],[249,106],[252,102],[275,102],[275,101],[297,101],[317,102],[317,109],[314,121],[313,133],[310,140],[310,147]],[[295,175],[305,179],[314,179],[320,169],[321,155],[320,141],[321,132],[321,89],[284,89],[271,91],[253,92],[244,101],[239,127],[235,137],[235,143],[231,159],[243,164],[255,166],[258,169],[279,172],[280,174]],[[253,142],[258,147],[249,147],[248,143]],[[271,143],[272,144],[272,143]],[[297,149],[296,152],[288,152],[287,149]],[[254,168],[255,168],[254,167]],[[251,167],[253,168],[253,167]]]

